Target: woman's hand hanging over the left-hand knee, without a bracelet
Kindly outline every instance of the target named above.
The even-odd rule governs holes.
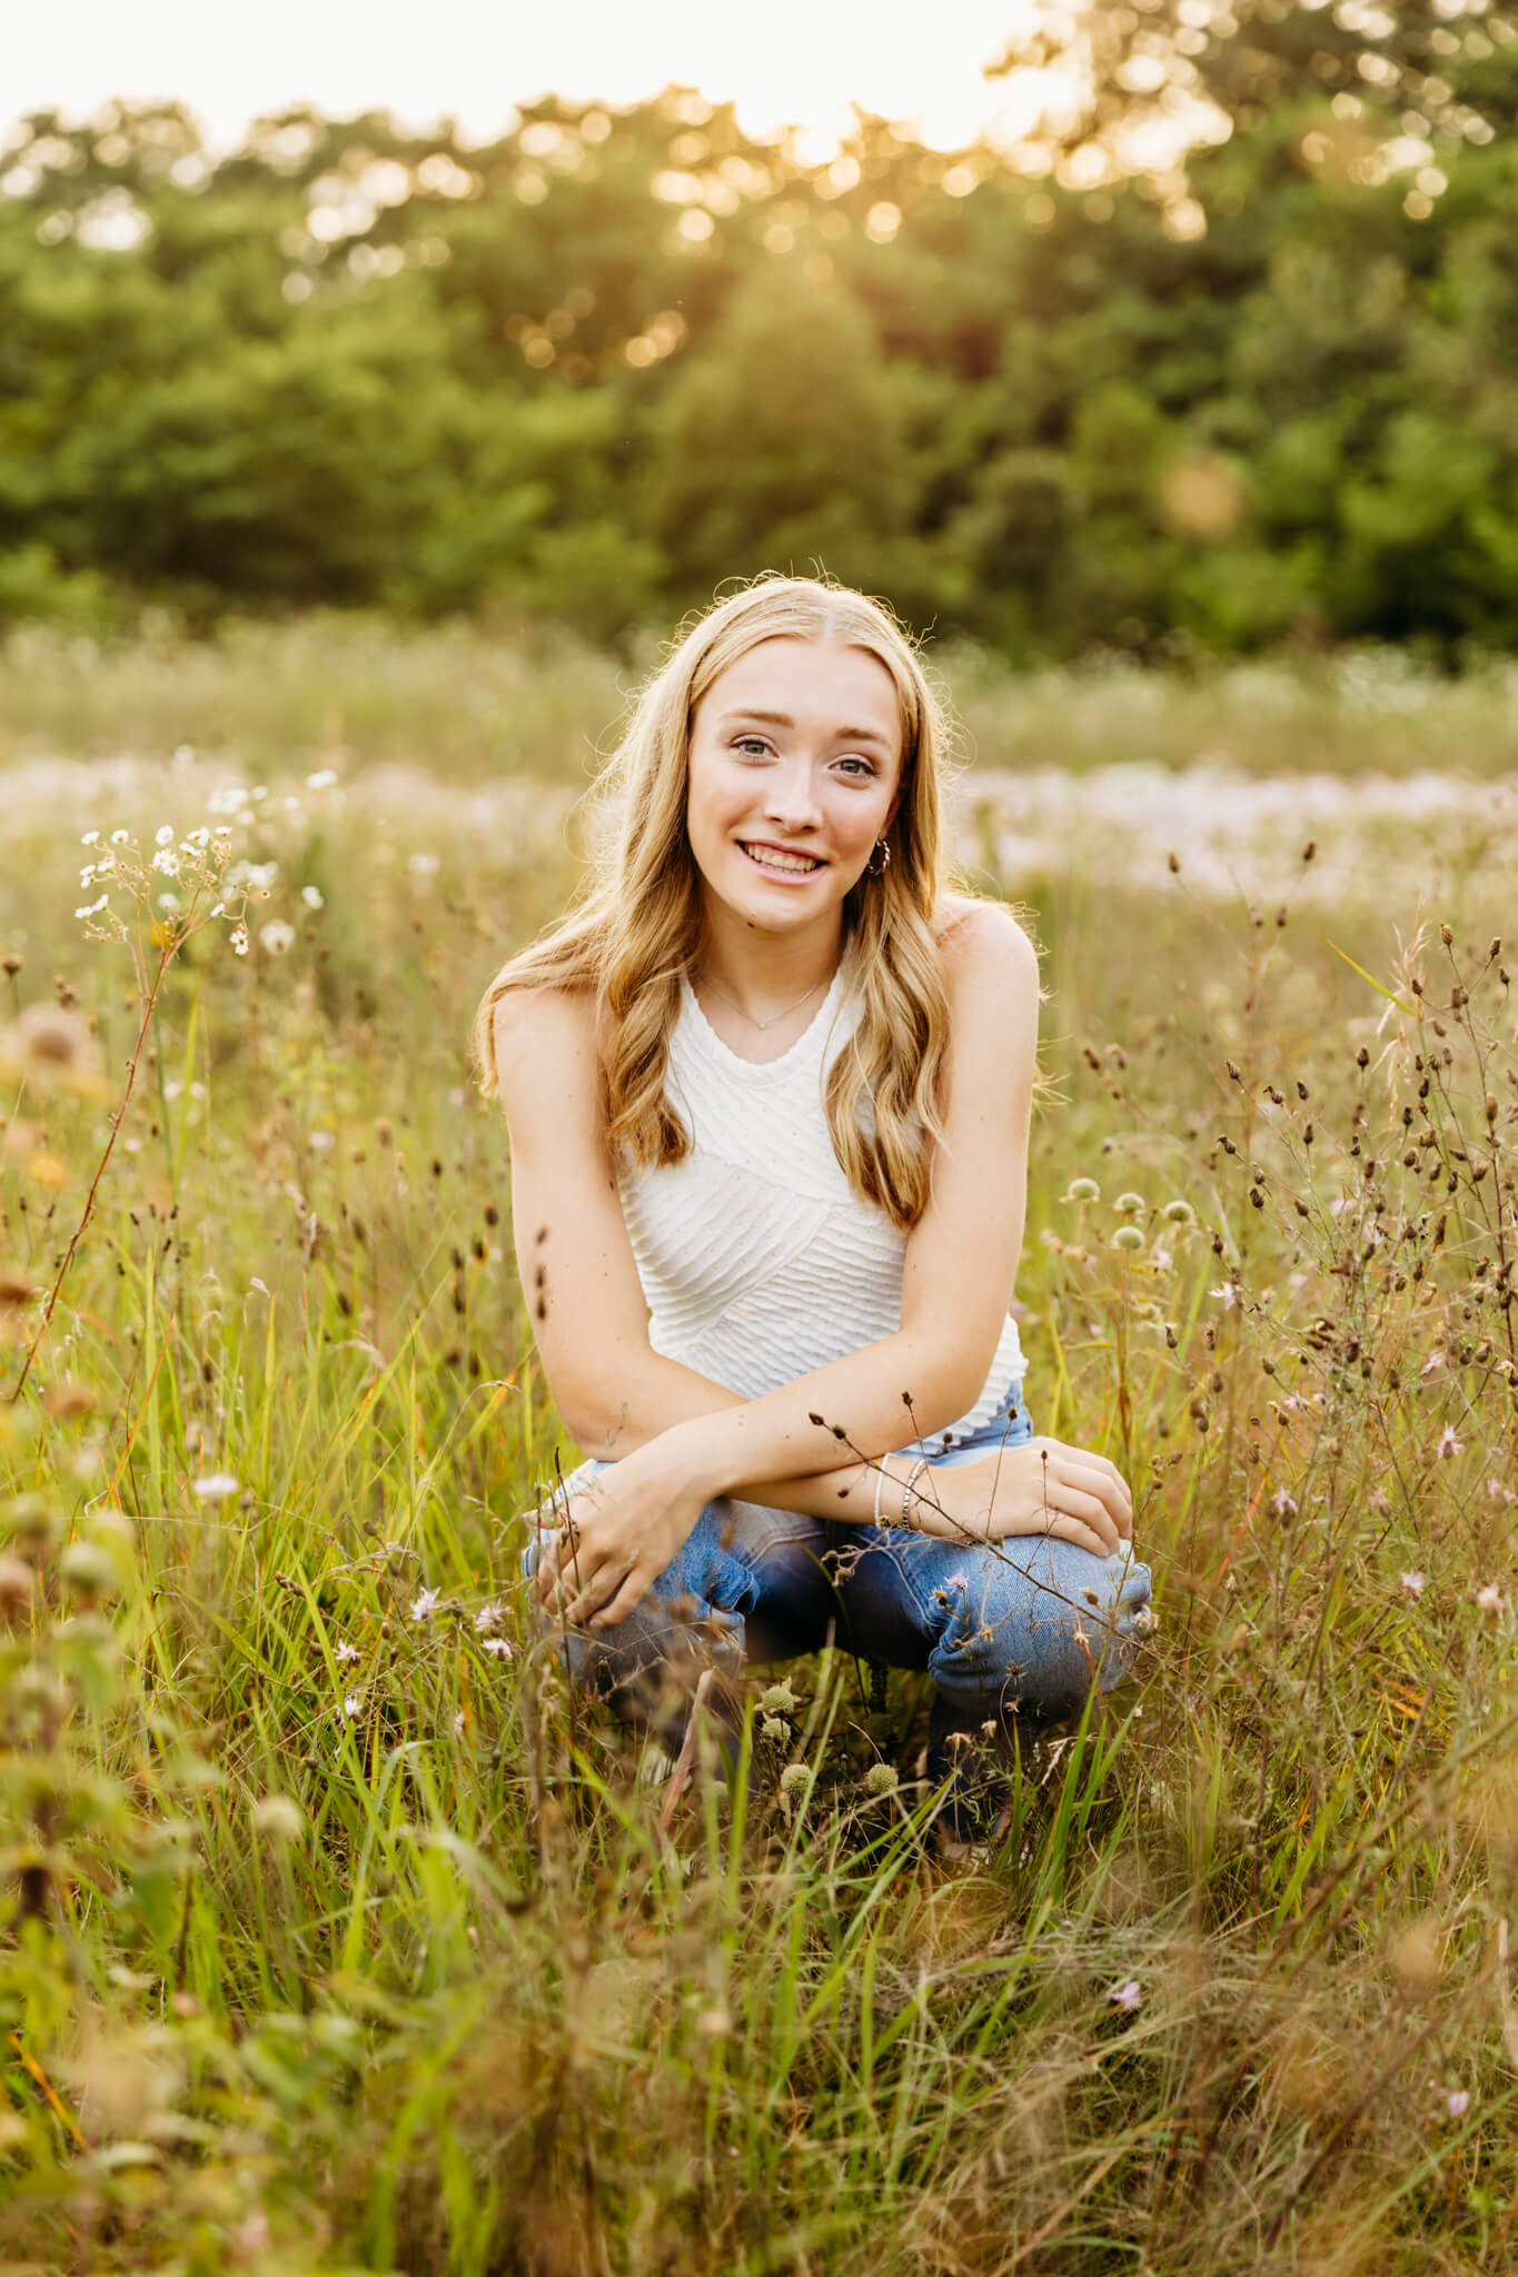
[[[651,1439],[555,1512],[537,1564],[537,1601],[555,1619],[614,1628],[690,1537],[708,1496]]]

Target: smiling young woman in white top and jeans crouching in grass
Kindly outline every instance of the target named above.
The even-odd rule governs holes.
[[[592,1457],[523,1560],[571,1674],[646,1719],[833,1633],[931,1669],[933,1776],[956,1735],[1079,1710],[1152,1619],[1122,1475],[1022,1405],[1038,959],[949,890],[942,751],[876,603],[733,594],[637,706],[587,893],[476,1027]]]

